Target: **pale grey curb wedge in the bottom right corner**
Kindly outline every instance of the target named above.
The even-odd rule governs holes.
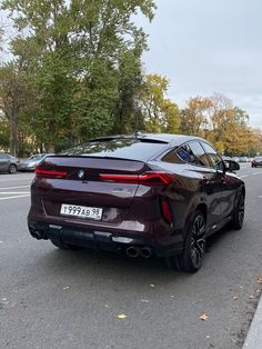
[[[262,297],[242,349],[262,349]]]

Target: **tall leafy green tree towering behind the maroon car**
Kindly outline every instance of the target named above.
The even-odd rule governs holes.
[[[124,129],[140,84],[143,31],[153,0],[4,0],[20,34],[12,52],[27,62],[38,91],[38,138],[52,151],[64,137],[87,139]]]

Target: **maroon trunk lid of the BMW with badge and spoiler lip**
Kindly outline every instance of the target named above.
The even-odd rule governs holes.
[[[102,221],[117,222],[131,207],[138,182],[104,181],[101,174],[140,174],[142,161],[94,157],[49,157],[37,170],[32,190],[38,191],[48,216],[60,216],[61,205],[102,208]],[[38,171],[46,173],[43,177]],[[52,173],[49,178],[49,174]],[[58,176],[56,178],[56,173]],[[79,218],[78,218],[79,219]]]

